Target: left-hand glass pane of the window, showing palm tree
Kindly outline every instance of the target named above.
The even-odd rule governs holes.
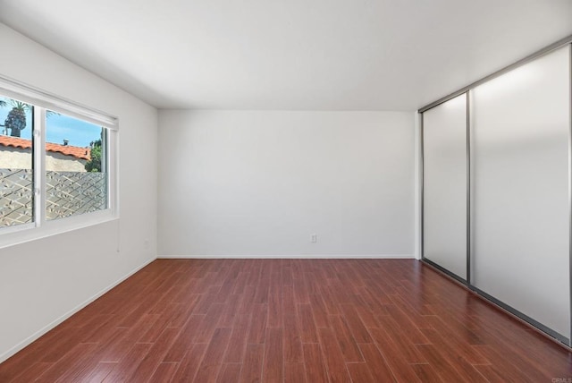
[[[0,96],[0,227],[34,220],[32,106]]]

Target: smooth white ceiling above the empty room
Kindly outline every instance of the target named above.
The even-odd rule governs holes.
[[[571,35],[572,1],[0,0],[0,21],[157,107],[415,110]]]

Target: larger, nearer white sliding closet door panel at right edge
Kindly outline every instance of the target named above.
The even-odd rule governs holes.
[[[569,61],[568,45],[471,91],[473,285],[568,338]]]

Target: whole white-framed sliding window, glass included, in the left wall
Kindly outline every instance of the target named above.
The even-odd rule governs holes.
[[[113,117],[0,77],[2,240],[116,217],[116,130]]]

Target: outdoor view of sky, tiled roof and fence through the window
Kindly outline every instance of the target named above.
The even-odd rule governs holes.
[[[0,227],[78,216],[108,208],[107,130],[70,115],[42,109],[46,138],[43,162],[39,145],[38,106],[0,97]],[[36,114],[38,115],[38,113]],[[44,168],[40,169],[43,163]],[[34,172],[45,174],[41,190]],[[36,192],[35,192],[36,191]],[[39,192],[38,192],[39,191]],[[35,217],[38,197],[46,209]]]

